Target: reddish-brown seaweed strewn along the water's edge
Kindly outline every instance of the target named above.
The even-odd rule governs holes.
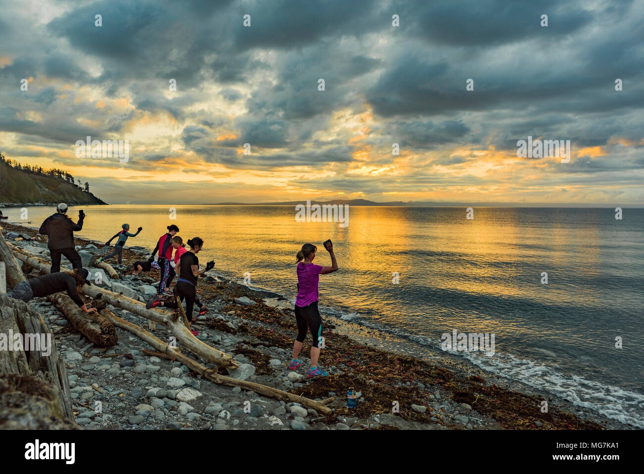
[[[213,290],[209,289],[208,292]],[[216,289],[219,298],[232,299],[248,294],[243,287],[235,286],[227,291],[227,285]],[[240,306],[231,303],[225,307],[235,311],[235,316],[248,321],[261,323],[249,325],[248,333],[255,338],[249,345],[278,346],[290,350],[293,345],[296,325],[293,311],[268,307],[261,302],[252,306]],[[269,329],[270,328],[270,329]],[[462,428],[442,410],[433,411],[435,400],[430,398],[435,387],[448,390],[451,399],[456,403],[467,403],[473,410],[482,413],[498,422],[498,428],[519,430],[602,430],[600,424],[584,421],[556,406],[551,402],[547,413],[541,411],[542,399],[513,390],[507,390],[496,384],[488,384],[481,377],[464,377],[446,368],[426,361],[397,355],[391,352],[366,345],[359,345],[342,334],[337,334],[329,325],[325,325],[325,348],[323,361],[326,367],[346,367],[343,374],[330,374],[328,377],[316,377],[306,381],[305,385],[292,389],[292,393],[309,398],[327,398],[329,392],[336,393],[340,403],[334,405],[335,412],[328,417],[332,422],[337,415],[369,419],[371,415],[392,413],[397,402],[399,415],[408,421],[436,423],[431,417],[435,415],[439,424],[450,428]],[[306,344],[306,343],[305,343]],[[308,348],[303,348],[307,354]],[[250,359],[250,357],[249,357]],[[411,386],[405,383],[409,382]],[[415,383],[422,383],[431,390],[421,390]],[[435,386],[435,387],[432,387]],[[361,399],[355,408],[346,406],[346,392],[349,389],[361,392]],[[424,413],[412,410],[412,404],[426,406]],[[537,426],[535,422],[540,422]]]

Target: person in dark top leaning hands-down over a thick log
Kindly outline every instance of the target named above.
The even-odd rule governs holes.
[[[83,285],[91,285],[90,272],[87,269],[74,269],[73,272],[56,272],[25,280],[15,285],[9,296],[26,302],[32,298],[66,291],[79,309],[86,313],[95,313],[96,308],[90,309],[79,295]]]

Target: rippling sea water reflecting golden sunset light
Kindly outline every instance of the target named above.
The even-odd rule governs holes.
[[[330,265],[321,246],[330,238],[341,270],[321,276],[326,314],[428,357],[442,353],[441,334],[494,333],[493,357],[457,355],[644,428],[644,209],[616,220],[614,209],[489,207],[467,220],[461,207],[351,207],[347,227],[296,222],[291,206],[176,206],[176,220],[161,205],[84,210],[81,237],[105,241],[128,222],[144,227],[128,244],[153,249],[176,223],[184,241],[204,239],[200,261],[213,259],[216,272],[249,272],[252,285],[287,298],[301,244]],[[28,211],[37,227],[53,208]]]

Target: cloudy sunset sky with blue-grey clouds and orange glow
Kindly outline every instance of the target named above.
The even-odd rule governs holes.
[[[113,204],[643,205],[643,44],[641,1],[0,0],[0,151]]]

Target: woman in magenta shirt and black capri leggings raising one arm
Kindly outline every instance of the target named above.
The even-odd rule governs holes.
[[[317,359],[320,355],[319,339],[322,336],[322,317],[317,310],[317,284],[320,275],[337,271],[337,261],[336,254],[333,252],[333,244],[330,241],[325,245],[325,249],[331,256],[331,267],[322,267],[312,263],[316,258],[317,247],[315,245],[305,243],[302,245],[302,250],[298,252],[298,297],[295,300],[298,337],[293,343],[293,359],[289,363],[289,368],[295,370],[302,365],[298,355],[302,350],[304,338],[307,337],[307,330],[310,330],[313,343],[311,345],[311,366],[308,369],[309,377],[328,375],[327,372],[323,372],[317,367]]]

